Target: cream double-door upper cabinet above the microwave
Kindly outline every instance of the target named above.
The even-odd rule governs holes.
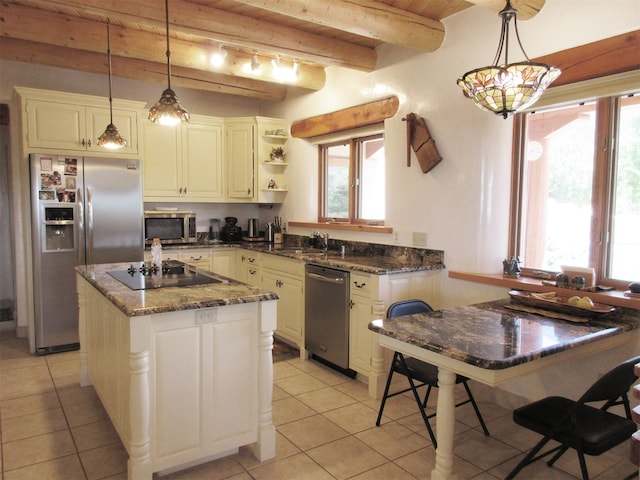
[[[220,119],[192,115],[177,127],[145,120],[142,136],[145,201],[224,200]]]

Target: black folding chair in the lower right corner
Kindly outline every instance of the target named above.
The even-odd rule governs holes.
[[[589,480],[584,456],[600,455],[628,440],[638,429],[631,420],[627,397],[627,392],[638,378],[634,373],[634,365],[638,362],[640,356],[621,363],[604,374],[577,401],[547,397],[514,410],[513,420],[518,425],[539,433],[543,438],[507,475],[506,480],[514,478],[530,463],[557,452],[547,462],[552,466],[570,448],[578,454],[583,480]],[[600,408],[587,405],[593,402],[605,403]],[[607,411],[614,405],[624,405],[626,418]],[[550,440],[560,445],[536,456]]]

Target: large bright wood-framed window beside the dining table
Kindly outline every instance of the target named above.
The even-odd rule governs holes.
[[[510,251],[526,268],[640,272],[640,95],[519,114]]]

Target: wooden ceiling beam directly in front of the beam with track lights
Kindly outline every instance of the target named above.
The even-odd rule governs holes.
[[[109,17],[113,23],[134,24],[140,28],[165,29],[164,8],[158,0],[33,0],[60,8],[72,7],[79,12]],[[377,54],[367,48],[304,30],[275,25],[271,22],[214,8],[215,1],[193,3],[172,0],[169,5],[170,31],[195,35],[209,41],[271,52],[320,65],[335,65],[370,72],[376,66]],[[44,8],[44,7],[43,7]]]

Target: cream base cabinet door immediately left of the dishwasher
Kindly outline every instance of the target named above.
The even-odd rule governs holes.
[[[276,333],[304,348],[302,327],[304,322],[304,290],[302,278],[263,270],[262,288],[278,294],[278,326]]]

